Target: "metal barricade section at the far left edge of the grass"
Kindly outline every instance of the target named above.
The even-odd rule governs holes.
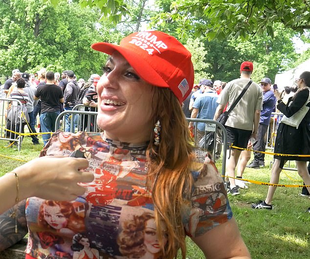
[[[21,151],[22,136],[19,132],[22,132],[22,112],[20,115],[17,112],[22,110],[22,103],[16,99],[0,98],[0,140],[6,140],[11,142],[8,145],[17,143],[18,151]],[[9,111],[9,112],[8,112]],[[8,116],[7,116],[8,115]],[[16,122],[20,122],[19,124]]]

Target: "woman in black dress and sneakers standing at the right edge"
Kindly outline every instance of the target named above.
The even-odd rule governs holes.
[[[288,118],[296,113],[300,108],[306,104],[310,107],[310,72],[303,72],[297,80],[298,90],[293,97],[288,99],[288,104],[284,104],[281,100],[280,93],[276,90],[274,92],[278,99],[277,108]],[[289,126],[280,121],[279,129],[274,146],[274,152],[278,154],[310,154],[310,110],[301,121],[298,128]],[[310,175],[307,169],[307,161],[310,157],[301,156],[274,156],[274,163],[271,169],[270,183],[278,184],[279,176],[287,160],[295,160],[298,174],[303,178],[306,185],[310,185]],[[308,191],[310,188],[307,187]],[[253,209],[272,209],[272,197],[275,193],[276,187],[269,186],[266,200],[260,201],[257,204],[252,204]]]

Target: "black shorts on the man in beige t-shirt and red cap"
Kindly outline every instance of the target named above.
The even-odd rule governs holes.
[[[235,147],[246,149],[252,130],[236,129],[229,126],[225,126],[225,129],[227,131],[227,148],[233,144]]]

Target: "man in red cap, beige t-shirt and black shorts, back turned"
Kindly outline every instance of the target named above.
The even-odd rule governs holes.
[[[240,66],[241,77],[227,83],[218,99],[219,106],[215,112],[214,120],[217,120],[228,103],[227,110],[232,106],[239,97],[242,90],[250,83],[253,72],[253,63],[245,61]],[[257,138],[257,129],[260,122],[260,113],[263,105],[262,88],[251,82],[245,91],[241,100],[235,108],[229,113],[228,120],[225,123],[227,130],[227,142],[238,148],[246,148],[251,138]],[[253,127],[254,125],[254,127]],[[226,161],[226,175],[229,177],[229,189],[232,195],[239,194],[239,186],[236,186],[235,169],[242,150],[231,149],[230,155]]]

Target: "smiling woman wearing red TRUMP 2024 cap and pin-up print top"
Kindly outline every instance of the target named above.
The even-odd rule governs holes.
[[[103,258],[173,259],[179,249],[185,258],[186,236],[208,258],[250,258],[221,175],[210,155],[189,142],[181,103],[194,83],[191,53],[159,31],[136,32],[120,45],[95,43],[92,48],[110,55],[97,84],[97,125],[104,132],[76,133],[78,144],[70,149],[62,148],[54,134],[41,152],[70,155],[73,148],[89,160],[95,179],[81,184],[87,192],[73,201],[84,217],[81,234]],[[68,256],[40,243],[37,215],[43,202],[27,200],[31,245],[26,259]],[[146,225],[131,223],[145,214],[155,218],[155,236],[148,242]],[[69,239],[51,234],[57,235],[53,240]]]

